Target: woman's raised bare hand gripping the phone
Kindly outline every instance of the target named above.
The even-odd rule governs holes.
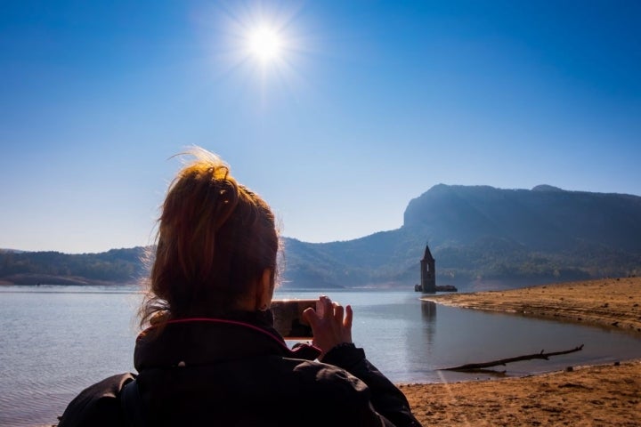
[[[312,326],[313,345],[322,351],[319,360],[338,344],[352,342],[353,311],[349,305],[343,310],[343,306],[323,295],[316,302],[316,310],[304,310],[303,317]]]

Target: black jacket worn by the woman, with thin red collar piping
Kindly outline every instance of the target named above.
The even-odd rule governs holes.
[[[342,345],[323,359],[289,350],[255,313],[179,319],[137,339],[135,378],[146,425],[420,426],[405,396],[363,350]],[[114,375],[69,403],[59,427],[131,425]],[[130,402],[131,403],[131,402]]]

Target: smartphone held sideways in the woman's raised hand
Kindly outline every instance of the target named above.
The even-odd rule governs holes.
[[[311,339],[312,326],[303,318],[308,307],[316,308],[318,300],[273,300],[272,315],[274,328],[286,340]]]

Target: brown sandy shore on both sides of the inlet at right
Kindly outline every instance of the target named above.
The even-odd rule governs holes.
[[[641,278],[440,294],[442,304],[622,328],[641,339]],[[402,384],[424,425],[641,426],[641,360],[448,384]]]

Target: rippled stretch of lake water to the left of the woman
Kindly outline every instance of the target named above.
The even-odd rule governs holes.
[[[0,288],[0,425],[56,423],[87,385],[133,370],[131,291]]]

